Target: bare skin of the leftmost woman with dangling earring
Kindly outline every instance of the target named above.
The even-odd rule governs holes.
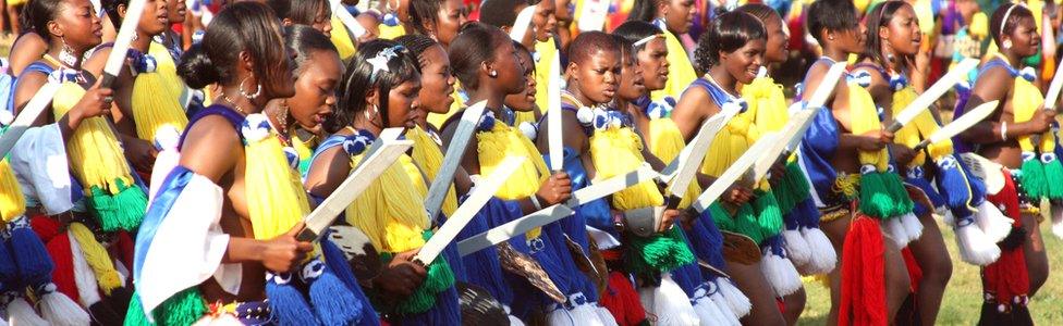
[[[74,51],[72,54],[81,58],[82,53],[100,42],[101,28],[100,20],[93,14],[90,2],[87,0],[63,1],[54,13],[54,20],[48,23],[51,43],[48,46],[47,54],[51,58],[59,58],[63,45],[62,39],[66,39],[66,45]],[[37,39],[40,38],[37,37]],[[38,57],[37,59],[41,58]],[[41,60],[41,62],[52,68],[60,67],[48,60]],[[70,68],[80,70],[80,62],[74,62],[74,65],[70,66]],[[112,95],[111,89],[100,88],[99,83],[94,82],[94,76],[84,72],[83,74],[86,75],[87,80],[82,87],[88,88],[88,90],[77,104],[58,122],[64,141],[70,139],[74,130],[86,118],[110,114],[111,102],[108,100],[108,97]],[[19,111],[29,102],[29,99],[48,83],[48,76],[42,73],[25,74],[19,82],[19,87],[14,92],[14,108],[16,108],[14,114],[19,114]],[[51,112],[50,108],[46,108],[45,112]],[[51,116],[52,114],[41,114],[34,122],[34,126],[41,126],[54,122]]]

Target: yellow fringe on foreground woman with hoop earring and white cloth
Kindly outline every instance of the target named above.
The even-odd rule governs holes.
[[[271,239],[289,231],[309,213],[306,190],[284,156],[273,133],[244,146],[247,214],[256,239]]]

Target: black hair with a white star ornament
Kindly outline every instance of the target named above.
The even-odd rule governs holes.
[[[378,68],[370,60],[384,58],[387,70]],[[388,95],[391,89],[417,77],[420,67],[414,54],[392,40],[377,39],[362,45],[358,53],[347,61],[346,72],[340,80],[340,100],[335,113],[322,124],[325,131],[333,134],[354,123],[356,114],[366,110],[366,96],[377,90],[377,108],[383,124],[388,122]]]

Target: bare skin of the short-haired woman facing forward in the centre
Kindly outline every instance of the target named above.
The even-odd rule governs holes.
[[[634,67],[634,65],[632,66]],[[637,83],[634,76],[640,74],[642,72],[635,72],[634,70],[628,73],[628,77],[632,78],[632,83],[628,86],[636,88],[636,91],[639,83]],[[591,106],[608,103],[616,96],[616,90],[621,84],[622,62],[620,53],[599,50],[585,58],[583,62],[570,62],[566,75],[569,76],[567,90],[579,101],[579,103],[569,104],[578,108],[581,103]],[[643,91],[645,91],[645,87],[643,87]],[[562,101],[567,100],[562,98]],[[595,179],[597,168],[595,168],[594,161],[590,156],[590,139],[582,131],[583,127],[579,125],[576,114],[571,111],[562,111],[561,121],[563,123],[562,128],[569,131],[564,136],[564,146],[579,152],[579,160],[587,171],[587,178]],[[540,131],[536,145],[540,152],[549,152],[548,135],[550,127],[549,120],[543,121],[539,126]],[[645,143],[642,148],[642,154],[646,159],[646,162],[649,162],[656,170],[664,167],[664,164],[649,152]],[[661,225],[658,226],[657,231],[660,233],[670,229],[679,215],[680,212],[676,210],[665,210],[663,216],[661,216]]]

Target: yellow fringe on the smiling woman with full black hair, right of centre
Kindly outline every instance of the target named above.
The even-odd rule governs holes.
[[[742,98],[749,103],[749,114],[760,134],[781,130],[790,121],[790,108],[782,85],[769,76],[757,77],[742,86]]]

